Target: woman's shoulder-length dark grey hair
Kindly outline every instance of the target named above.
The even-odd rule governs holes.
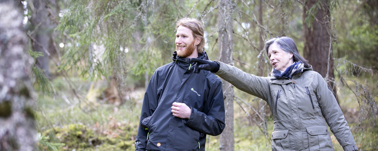
[[[273,44],[274,42],[276,42],[282,50],[286,52],[291,52],[293,54],[294,62],[300,61],[304,64],[304,67],[310,67],[310,65],[308,64],[308,61],[304,59],[302,56],[300,56],[297,49],[297,45],[295,44],[294,40],[291,39],[290,37],[275,37],[275,38],[268,39],[267,42],[265,42],[265,48],[264,48],[267,54],[268,54],[268,49],[270,45]]]

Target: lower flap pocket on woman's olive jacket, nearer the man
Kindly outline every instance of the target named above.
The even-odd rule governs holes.
[[[290,150],[289,130],[276,130],[272,132],[272,150]]]

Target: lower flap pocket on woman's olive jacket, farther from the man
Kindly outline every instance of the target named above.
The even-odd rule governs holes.
[[[331,137],[327,126],[306,127],[308,136],[308,148],[310,150],[333,150]]]

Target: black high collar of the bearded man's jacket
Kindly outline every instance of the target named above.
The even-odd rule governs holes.
[[[202,53],[198,53],[197,58],[209,60],[209,57],[207,56],[207,53],[205,51]],[[186,69],[188,71],[192,71],[194,68],[194,65],[196,65],[197,63],[197,62],[192,62],[191,58],[178,56],[176,51],[173,52],[172,60],[175,64],[177,64],[181,68]]]

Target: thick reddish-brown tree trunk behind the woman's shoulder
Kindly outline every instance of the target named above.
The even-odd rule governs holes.
[[[337,99],[337,91],[334,83],[335,75],[333,72],[333,55],[332,55],[332,35],[330,27],[330,11],[328,0],[319,1],[320,8],[317,9],[316,19],[310,23],[310,27],[304,22],[308,17],[307,11],[318,1],[305,1],[303,8],[303,26],[304,26],[304,52],[303,56],[312,65],[312,68],[319,72],[328,83],[329,88],[333,91]],[[312,15],[312,14],[310,14]]]

